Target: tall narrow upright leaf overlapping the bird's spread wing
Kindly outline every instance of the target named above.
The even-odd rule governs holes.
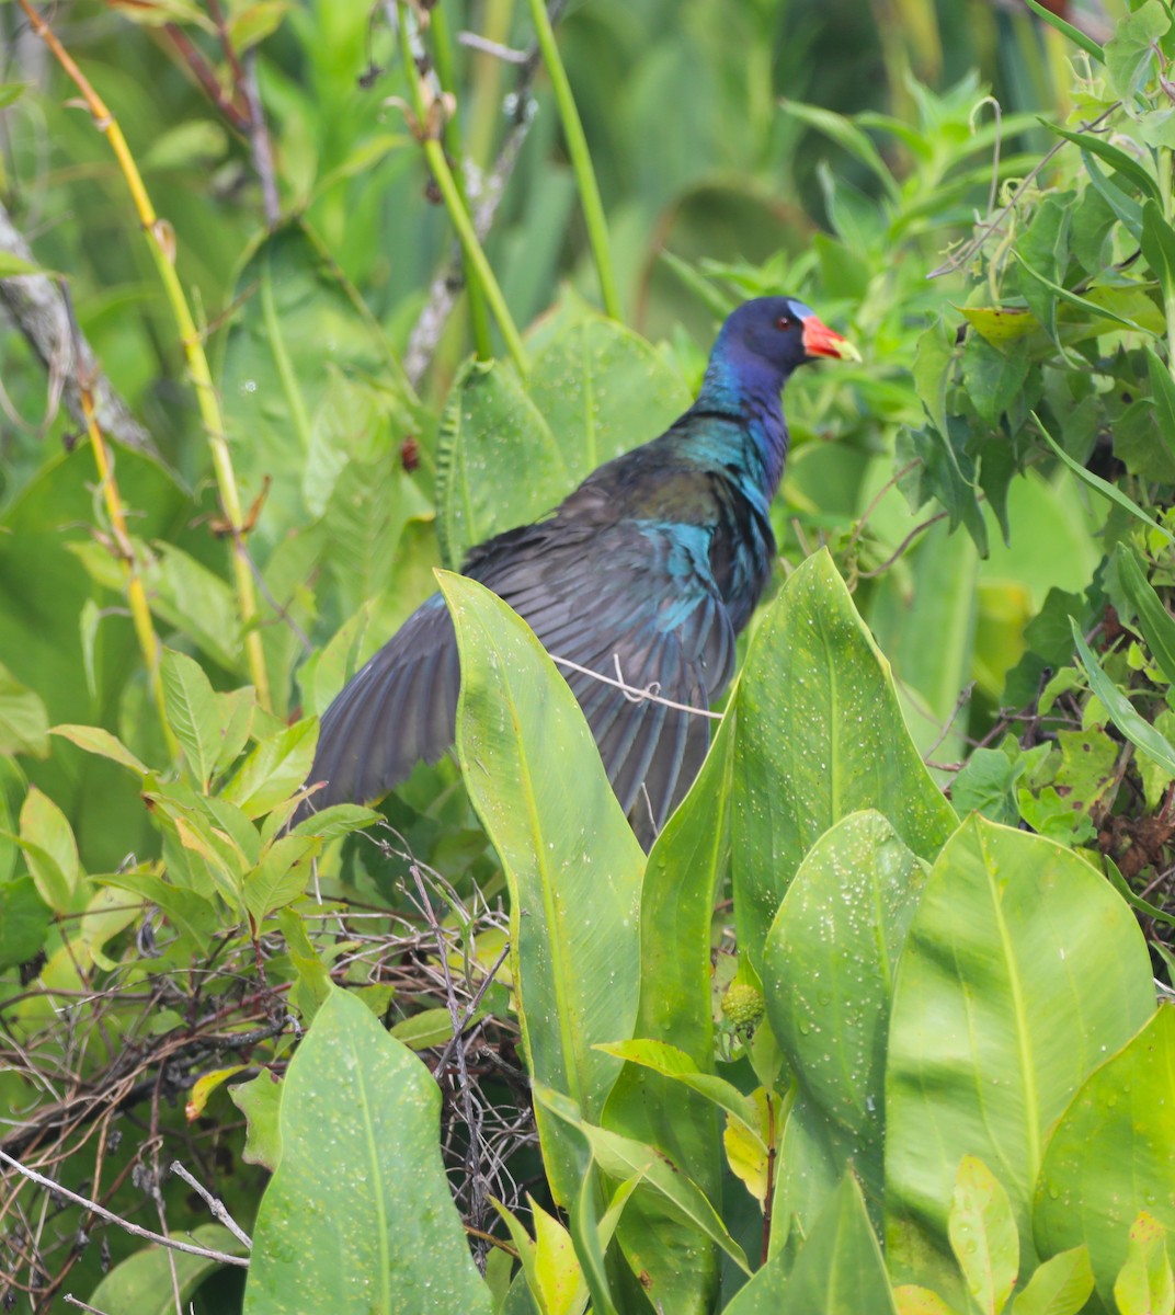
[[[511,965],[536,1082],[599,1119],[632,1036],[643,853],[579,704],[526,623],[464,576],[438,576],[461,650],[457,750],[511,890]],[[574,807],[572,807],[574,801]],[[525,915],[524,915],[525,910]],[[574,1199],[562,1124],[538,1115],[555,1201]]]

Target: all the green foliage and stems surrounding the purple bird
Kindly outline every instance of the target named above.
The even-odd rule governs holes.
[[[1175,36],[1107,8],[591,0],[522,63],[512,0],[79,3],[96,120],[0,5],[0,293],[59,277],[146,434],[0,322],[5,1155],[239,1260],[180,1160],[246,1311],[1171,1308]],[[284,834],[434,568],[780,291],[864,359],[789,384],[780,589],[647,864],[457,576],[499,771]],[[241,1304],[5,1166],[16,1308]]]

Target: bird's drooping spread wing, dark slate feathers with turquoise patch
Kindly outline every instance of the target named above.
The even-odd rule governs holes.
[[[561,669],[617,798],[651,840],[709,744],[705,717],[658,700],[707,709],[734,668],[708,535],[632,522],[578,534],[555,519],[491,540],[466,571],[520,613],[547,652],[575,664]],[[453,623],[434,594],[326,710],[311,780],[329,784],[313,806],[374,798],[418,759],[436,761],[454,739],[459,680]],[[617,680],[628,689],[607,682]]]

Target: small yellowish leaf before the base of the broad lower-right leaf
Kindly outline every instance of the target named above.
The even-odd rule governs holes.
[[[972,1302],[982,1315],[1000,1315],[1020,1269],[1020,1239],[1008,1193],[975,1156],[959,1161],[947,1233]]]

